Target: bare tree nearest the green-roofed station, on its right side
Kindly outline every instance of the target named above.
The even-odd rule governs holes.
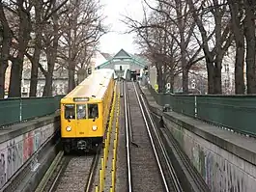
[[[166,82],[171,83],[172,92],[174,78],[182,71],[177,57],[178,46],[173,39],[170,39],[166,30],[150,26],[149,22],[157,19],[154,16],[152,14],[150,18],[147,18],[145,13],[142,23],[129,17],[124,22],[132,29],[131,31],[137,34],[136,43],[141,46],[144,55],[156,67],[158,92],[164,92]]]

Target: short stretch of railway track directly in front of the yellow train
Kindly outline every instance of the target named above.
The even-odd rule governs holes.
[[[97,154],[64,156],[60,151],[46,172],[36,192],[69,192],[92,190],[94,175],[100,159]]]

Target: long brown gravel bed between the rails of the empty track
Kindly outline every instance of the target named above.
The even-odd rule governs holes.
[[[139,146],[138,148],[130,146],[132,191],[163,191],[156,157],[132,82],[128,83],[128,102],[133,142]]]

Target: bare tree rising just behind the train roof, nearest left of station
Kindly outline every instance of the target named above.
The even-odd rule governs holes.
[[[60,39],[59,57],[69,69],[69,91],[75,86],[74,74],[78,63],[85,62],[88,47],[96,46],[105,33],[99,1],[75,0],[69,5],[63,36]],[[84,58],[84,59],[81,59]],[[84,64],[83,64],[84,65]]]

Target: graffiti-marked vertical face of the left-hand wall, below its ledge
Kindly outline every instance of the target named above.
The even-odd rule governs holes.
[[[49,123],[0,144],[0,189],[53,132]]]

